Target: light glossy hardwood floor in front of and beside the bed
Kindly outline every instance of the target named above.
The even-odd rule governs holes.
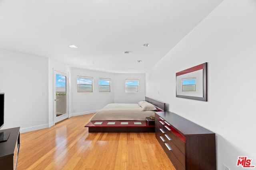
[[[17,170],[175,170],[155,133],[88,133],[92,115],[21,133]]]

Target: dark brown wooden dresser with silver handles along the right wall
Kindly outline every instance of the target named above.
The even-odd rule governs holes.
[[[176,170],[216,170],[215,133],[169,111],[155,113],[156,139]]]

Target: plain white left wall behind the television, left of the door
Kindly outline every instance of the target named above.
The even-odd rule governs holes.
[[[48,127],[48,59],[0,50],[0,92],[5,93],[4,127],[21,132]]]

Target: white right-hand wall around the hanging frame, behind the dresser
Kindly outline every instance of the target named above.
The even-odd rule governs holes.
[[[146,73],[146,95],[216,133],[217,168],[256,165],[256,1],[224,0]],[[175,73],[208,62],[208,102],[176,98]],[[159,91],[159,94],[158,94]]]

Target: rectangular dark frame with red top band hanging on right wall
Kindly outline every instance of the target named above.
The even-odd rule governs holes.
[[[207,102],[207,63],[176,72],[176,97]]]

